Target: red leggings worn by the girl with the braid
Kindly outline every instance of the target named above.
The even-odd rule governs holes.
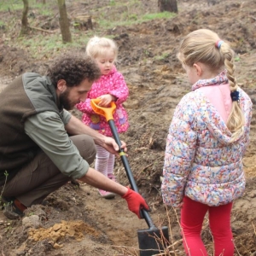
[[[201,241],[201,227],[207,212],[214,241],[214,256],[233,256],[234,243],[230,227],[232,202],[219,207],[209,207],[189,197],[183,198],[181,226],[183,247],[189,256],[207,256],[207,250]]]

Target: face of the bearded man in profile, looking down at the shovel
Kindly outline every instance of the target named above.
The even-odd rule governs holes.
[[[67,87],[61,91],[59,100],[63,108],[71,110],[79,102],[84,102],[93,82],[85,79],[81,84],[74,87]]]

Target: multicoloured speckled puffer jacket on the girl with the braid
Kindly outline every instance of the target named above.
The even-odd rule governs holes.
[[[219,206],[234,201],[245,189],[242,157],[249,143],[252,102],[239,88],[244,133],[229,143],[231,133],[217,109],[197,90],[227,84],[226,77],[199,80],[177,105],[166,141],[161,192],[164,203],[177,207],[186,195]]]

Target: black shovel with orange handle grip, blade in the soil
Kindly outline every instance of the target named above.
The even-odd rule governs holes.
[[[129,162],[127,160],[125,152],[121,148],[119,133],[113,121],[113,112],[116,108],[116,105],[114,102],[111,102],[109,108],[102,108],[97,105],[97,103],[99,102],[100,99],[90,100],[90,104],[95,113],[98,113],[107,119],[108,125],[110,126],[110,129],[113,133],[113,138],[115,142],[119,145],[119,155],[121,157],[123,165],[125,166],[125,172],[131,184],[131,189],[138,193],[137,184],[135,183],[135,179],[132,175],[131,168],[129,166]],[[154,225],[152,219],[150,218],[148,212],[145,209],[142,209],[140,213],[141,217],[143,217],[148,224],[148,230],[137,230],[140,256],[151,256],[163,252],[163,250],[170,244],[168,228],[164,226],[161,227],[161,229],[159,230]]]

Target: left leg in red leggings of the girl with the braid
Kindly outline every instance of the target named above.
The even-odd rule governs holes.
[[[189,197],[183,198],[181,210],[181,226],[183,231],[183,247],[189,256],[207,256],[207,250],[201,241],[201,226],[208,206],[193,201]]]

